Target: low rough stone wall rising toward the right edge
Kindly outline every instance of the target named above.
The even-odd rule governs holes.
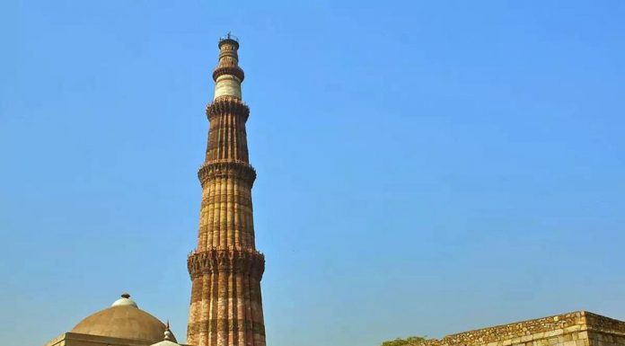
[[[625,346],[625,322],[578,311],[451,334],[422,346]]]

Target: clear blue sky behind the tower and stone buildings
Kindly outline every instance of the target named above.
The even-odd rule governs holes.
[[[268,345],[625,319],[625,2],[0,4],[0,335],[128,291],[184,340],[241,40]]]

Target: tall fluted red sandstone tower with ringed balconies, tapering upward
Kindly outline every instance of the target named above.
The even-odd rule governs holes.
[[[256,172],[248,159],[250,109],[241,98],[238,49],[230,34],[219,40],[215,97],[207,106],[207,155],[198,172],[198,248],[187,260],[192,280],[187,343],[194,346],[265,346],[260,297],[265,258],[254,244]]]

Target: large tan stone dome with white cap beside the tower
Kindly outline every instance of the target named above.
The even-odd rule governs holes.
[[[112,306],[84,318],[71,333],[160,342],[167,327],[158,318],[141,310],[123,294]],[[176,338],[172,334],[172,341]]]

